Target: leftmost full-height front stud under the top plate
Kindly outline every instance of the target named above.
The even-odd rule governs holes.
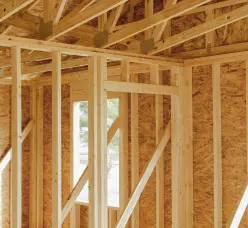
[[[21,49],[12,47],[11,227],[22,226]]]

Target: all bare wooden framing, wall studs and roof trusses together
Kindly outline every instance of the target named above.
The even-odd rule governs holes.
[[[89,181],[87,204],[89,227],[129,227],[130,217],[132,228],[139,227],[143,222],[140,221],[139,198],[155,169],[156,227],[164,228],[166,167],[163,153],[169,140],[171,140],[172,160],[172,227],[194,227],[192,74],[193,67],[207,64],[212,66],[213,88],[214,227],[222,227],[225,223],[223,210],[225,203],[223,206],[222,199],[225,197],[225,192],[222,193],[221,64],[245,61],[247,82],[248,43],[215,46],[213,34],[221,27],[247,18],[248,0],[226,0],[211,4],[206,4],[211,0],[184,0],[178,3],[177,0],[167,0],[163,1],[163,8],[161,7],[162,10],[159,12],[154,7],[153,0],[145,0],[145,18],[138,21],[134,18],[134,7],[141,3],[140,0],[84,0],[73,9],[66,7],[68,0],[44,0],[43,18],[34,16],[30,11],[38,2],[39,0],[14,0],[6,3],[0,0],[0,46],[3,53],[0,59],[0,84],[12,86],[11,147],[0,160],[0,174],[11,161],[11,227],[19,228],[23,225],[21,145],[29,133],[29,226],[44,226],[43,86],[45,85],[52,85],[53,228],[62,227],[69,213],[70,227],[80,226],[80,205],[77,197],[87,181]],[[220,16],[215,13],[218,9],[230,6],[234,6],[235,10],[229,12],[228,9],[228,13]],[[63,17],[64,9],[68,9],[69,12]],[[124,11],[128,10],[130,12],[124,16],[127,17],[128,23],[125,24],[122,23],[122,16]],[[199,12],[206,13],[204,23],[181,33],[173,31],[176,35],[171,36],[171,19]],[[88,22],[93,19],[98,19],[98,27],[89,25]],[[46,41],[4,35],[9,31],[12,33],[13,27],[26,30],[29,37],[32,35]],[[57,38],[67,39],[64,35],[75,38],[75,41],[73,40],[75,45],[49,42]],[[144,37],[144,42],[140,42],[139,35],[142,39]],[[206,48],[171,54],[172,47],[202,35],[206,37]],[[98,36],[100,42],[96,42]],[[143,51],[142,44],[145,41],[151,43],[148,42],[148,50]],[[95,48],[94,45],[101,48]],[[116,51],[111,47],[112,45],[123,45],[126,51]],[[11,49],[11,58],[8,54],[5,56],[8,48]],[[21,52],[23,49],[25,50]],[[168,57],[154,56],[162,51]],[[140,52],[147,55],[139,54]],[[163,81],[164,71],[170,71],[171,83]],[[139,83],[140,73],[150,73],[150,82]],[[44,77],[40,77],[41,74],[44,74]],[[89,102],[89,163],[76,181],[77,178],[73,176],[75,157],[71,156],[71,193],[64,205],[61,194],[62,83],[68,83],[70,86],[80,84],[80,89],[85,93],[85,100]],[[21,86],[23,85],[30,86],[31,96],[30,122],[22,131]],[[246,89],[246,100],[248,100],[247,91]],[[139,94],[144,93],[154,95],[155,98],[156,148],[147,168],[140,175],[138,113],[142,110],[139,110],[138,98]],[[75,96],[80,97],[78,94]],[[120,114],[107,132],[108,96],[120,98]],[[171,119],[163,133],[164,96],[171,97]],[[73,99],[70,101],[73,103]],[[247,104],[246,112],[248,113]],[[73,113],[73,104],[71,113]],[[74,120],[71,120],[70,124],[72,132]],[[109,209],[107,146],[118,129],[120,130],[120,207]],[[131,130],[130,134],[129,130]],[[74,150],[73,140],[71,136],[71,153]],[[244,197],[243,200],[247,205]],[[244,213],[244,209],[241,212]],[[233,227],[240,221],[241,218],[233,224]]]

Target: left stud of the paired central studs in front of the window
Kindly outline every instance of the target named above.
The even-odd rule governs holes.
[[[98,59],[89,59],[88,79],[88,146],[89,146],[89,227],[99,226],[98,202],[98,153],[97,153],[97,67]]]

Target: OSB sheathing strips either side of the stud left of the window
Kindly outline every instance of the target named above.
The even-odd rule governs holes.
[[[52,90],[44,87],[44,227],[52,224]],[[62,202],[70,194],[70,87],[62,86]],[[69,216],[63,228],[69,227]]]

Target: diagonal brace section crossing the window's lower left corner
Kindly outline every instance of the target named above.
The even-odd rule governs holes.
[[[63,207],[62,215],[61,215],[61,217],[62,217],[61,218],[61,226],[62,226],[62,223],[65,220],[66,216],[70,212],[71,208],[73,207],[77,197],[79,196],[83,187],[85,186],[86,182],[88,181],[88,179],[89,179],[89,169],[87,166],[86,169],[84,170],[84,172],[82,173],[81,177],[79,178],[78,183],[73,188],[72,193],[68,197],[68,200],[65,203],[65,206]]]

